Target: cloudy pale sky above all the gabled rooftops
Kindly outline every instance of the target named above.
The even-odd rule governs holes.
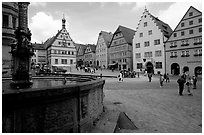
[[[63,14],[66,29],[76,43],[96,44],[98,33],[112,32],[119,25],[136,29],[144,8],[176,27],[190,6],[202,11],[198,0],[190,2],[31,2],[29,28],[32,42],[45,42],[62,28]]]

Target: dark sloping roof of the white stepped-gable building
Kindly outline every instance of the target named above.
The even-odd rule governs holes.
[[[149,13],[150,14],[150,13]],[[164,34],[164,36],[166,38],[169,38],[171,33],[172,33],[172,29],[171,27],[167,24],[164,23],[163,21],[159,20],[158,17],[153,16],[152,14],[150,14],[150,16],[152,17],[152,19],[154,20],[154,22],[157,24],[157,26],[159,27],[159,29],[161,29],[162,33]]]

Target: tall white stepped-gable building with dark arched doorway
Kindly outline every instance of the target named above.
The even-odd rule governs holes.
[[[133,39],[134,71],[165,73],[164,42],[172,33],[170,26],[145,8]]]

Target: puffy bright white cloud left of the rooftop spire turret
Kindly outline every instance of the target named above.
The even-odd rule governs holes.
[[[57,34],[57,31],[61,29],[61,25],[61,20],[54,20],[51,15],[38,12],[31,18],[29,26],[32,33],[31,42],[45,42],[48,38]]]

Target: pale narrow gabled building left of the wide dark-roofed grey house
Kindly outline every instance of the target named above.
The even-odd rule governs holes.
[[[108,67],[108,46],[112,39],[113,34],[111,32],[101,31],[98,36],[96,44],[96,66],[101,68]]]

